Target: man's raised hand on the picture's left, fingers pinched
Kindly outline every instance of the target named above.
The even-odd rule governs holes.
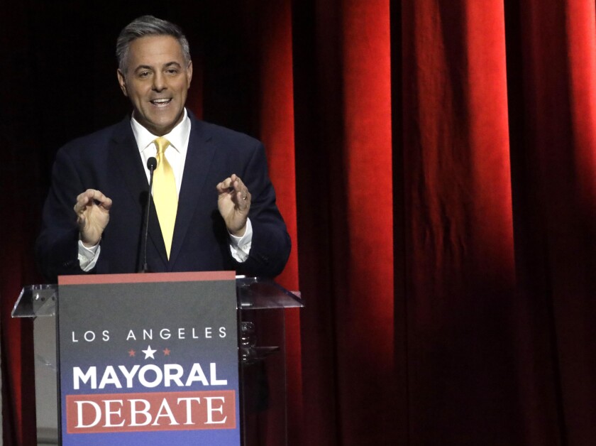
[[[84,246],[95,246],[110,220],[111,199],[99,190],[87,189],[77,196],[75,214]]]

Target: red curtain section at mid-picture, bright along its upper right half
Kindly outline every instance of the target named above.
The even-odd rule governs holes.
[[[304,444],[395,444],[390,4],[293,23]]]

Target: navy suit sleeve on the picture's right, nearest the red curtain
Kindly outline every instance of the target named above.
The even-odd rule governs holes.
[[[253,225],[253,241],[248,259],[236,262],[236,271],[247,276],[275,277],[287,263],[291,242],[275,204],[263,144],[257,144],[240,176],[252,196],[248,217]]]

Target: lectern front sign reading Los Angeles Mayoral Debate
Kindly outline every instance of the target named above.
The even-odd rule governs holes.
[[[59,285],[62,445],[240,445],[233,272]]]

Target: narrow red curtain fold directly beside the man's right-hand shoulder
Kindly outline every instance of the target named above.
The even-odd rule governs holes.
[[[289,0],[254,1],[259,17],[258,48],[260,138],[267,148],[267,163],[280,212],[292,238],[292,253],[277,281],[288,290],[299,290],[296,215],[296,166],[294,163],[294,82],[292,75],[292,4]],[[298,310],[286,312],[288,436],[302,436],[302,349]]]

